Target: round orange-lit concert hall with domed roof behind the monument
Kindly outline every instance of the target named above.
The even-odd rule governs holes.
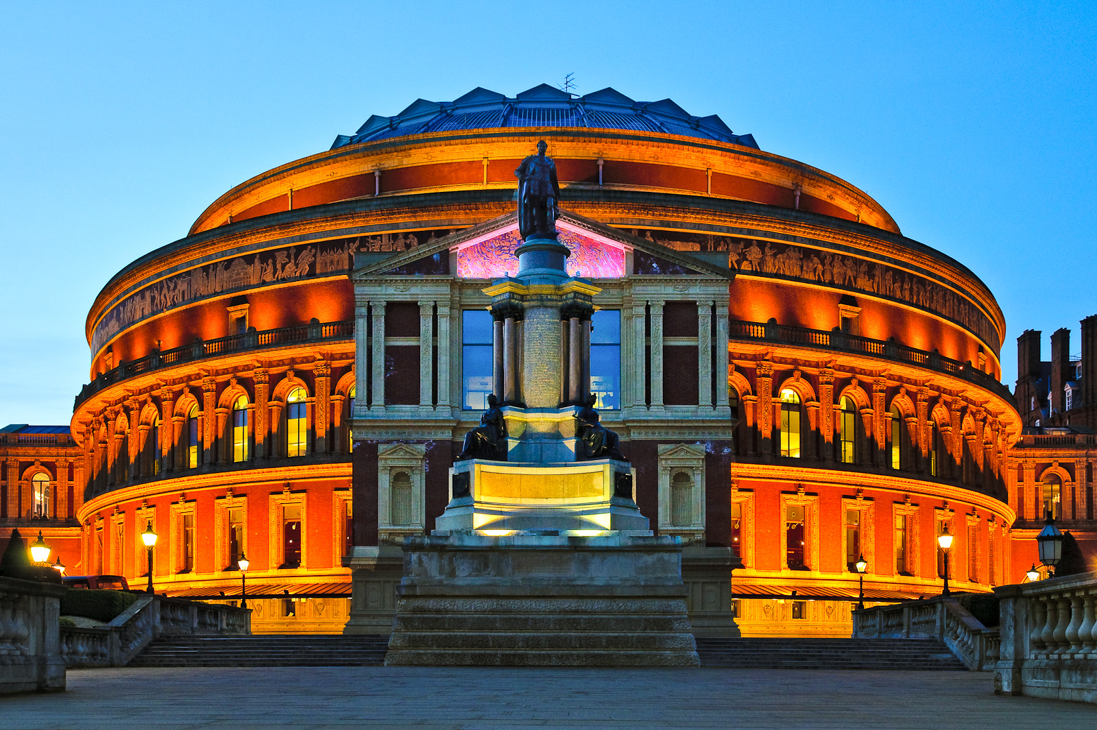
[[[157,592],[239,601],[246,556],[255,630],[385,631],[400,543],[497,386],[485,289],[517,270],[540,139],[568,271],[599,289],[589,388],[686,544],[699,632],[848,635],[858,558],[868,602],[932,595],[945,529],[954,591],[1020,581],[983,282],[716,116],[548,85],[371,116],[106,283],[71,421],[79,572],[144,585],[151,524]]]

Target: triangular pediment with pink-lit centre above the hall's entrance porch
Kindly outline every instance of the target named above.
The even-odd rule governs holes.
[[[735,271],[712,254],[678,250],[561,209],[556,221],[559,242],[568,248],[567,272],[584,278],[621,278],[631,273],[645,275],[703,275],[734,278]],[[518,271],[514,250],[521,244],[517,212],[486,220],[464,230],[434,239],[425,246],[391,255],[359,256],[354,276],[370,276],[397,270],[429,256],[451,255],[450,275],[459,278],[494,280]],[[627,271],[629,255],[634,258]],[[719,256],[719,254],[717,254]]]

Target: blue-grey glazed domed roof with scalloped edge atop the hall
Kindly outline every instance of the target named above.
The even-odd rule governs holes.
[[[452,102],[418,99],[396,116],[374,114],[353,135],[339,135],[331,149],[387,137],[499,127],[577,127],[655,132],[758,148],[751,135],[736,135],[723,121],[692,116],[669,99],[637,102],[606,88],[575,96],[547,83],[513,99],[479,87]]]

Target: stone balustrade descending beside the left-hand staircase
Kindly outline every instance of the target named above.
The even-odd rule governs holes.
[[[244,634],[247,608],[142,596],[105,626],[61,627],[61,655],[67,666],[125,666],[159,636]]]

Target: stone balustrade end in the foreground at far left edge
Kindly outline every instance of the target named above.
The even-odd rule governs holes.
[[[0,578],[0,694],[63,692],[64,585]]]

